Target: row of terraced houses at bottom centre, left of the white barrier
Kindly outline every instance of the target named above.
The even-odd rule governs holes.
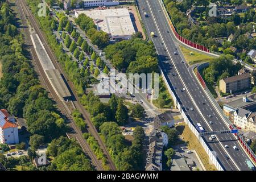
[[[160,130],[153,130],[149,140],[146,171],[162,171],[163,147],[168,144],[168,136]]]

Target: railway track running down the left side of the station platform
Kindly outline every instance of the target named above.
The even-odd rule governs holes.
[[[22,20],[22,24],[26,25],[27,24],[26,9],[24,9],[24,5],[22,3],[18,3],[18,0],[16,0],[15,3],[16,3],[16,6],[18,7],[18,11],[20,14],[20,19]],[[26,11],[26,13],[25,13],[25,11]],[[94,155],[94,153],[90,150],[89,144],[85,142],[85,139],[82,137],[82,133],[81,133],[80,129],[75,125],[73,119],[71,118],[70,111],[68,110],[67,106],[65,105],[65,103],[63,101],[60,100],[60,98],[55,93],[55,90],[52,88],[51,83],[49,82],[46,74],[43,71],[43,67],[40,64],[40,61],[36,54],[36,51],[35,51],[34,47],[31,46],[32,42],[30,39],[30,32],[27,30],[27,28],[24,28],[24,34],[26,36],[26,38],[25,38],[26,43],[28,46],[30,46],[30,52],[31,52],[32,58],[35,62],[35,67],[38,70],[39,75],[41,76],[42,82],[44,83],[46,88],[49,90],[49,94],[51,95],[51,97],[56,101],[56,104],[59,107],[59,110],[61,111],[61,113],[63,113],[65,115],[65,117],[67,117],[68,121],[70,121],[70,126],[76,131],[75,137],[76,137],[77,141],[79,142],[80,146],[82,147],[82,150],[84,150],[86,152],[86,154],[89,156],[89,158],[91,159],[93,166],[95,166],[96,169],[99,171],[103,170],[101,163],[98,161],[98,159]]]

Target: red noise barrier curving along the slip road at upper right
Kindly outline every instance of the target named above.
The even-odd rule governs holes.
[[[185,39],[183,38],[182,36],[180,36],[175,27],[174,27],[174,24],[172,24],[172,21],[171,21],[171,18],[166,10],[166,7],[164,6],[164,3],[162,0],[159,0],[160,3],[161,3],[161,6],[163,7],[163,10],[164,10],[164,14],[166,14],[166,17],[168,19],[168,22],[170,23],[170,26],[171,26],[171,29],[172,29],[172,32],[174,32],[174,35],[175,37],[182,43],[186,44],[187,46],[189,47],[193,47],[195,49],[199,49],[200,51],[204,51],[204,52],[208,52],[208,53],[213,53],[214,55],[220,55],[220,53],[218,52],[214,52],[214,51],[210,51],[208,48],[206,48],[205,46],[201,46],[200,44],[197,44],[197,43],[194,43],[194,42],[191,42],[190,40],[188,39]]]

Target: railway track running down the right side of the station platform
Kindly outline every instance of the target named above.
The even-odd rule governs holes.
[[[16,0],[16,2],[18,2],[18,0]],[[88,125],[88,131],[93,135],[93,137],[97,140],[98,144],[100,145],[101,149],[104,151],[104,154],[106,155],[107,159],[108,159],[108,165],[110,167],[110,169],[112,171],[115,171],[117,170],[114,166],[114,163],[112,161],[112,158],[110,157],[110,154],[108,152],[108,150],[106,149],[104,143],[102,142],[102,139],[100,138],[100,135],[98,135],[98,132],[96,130],[96,127],[94,127],[94,125],[92,124],[92,122],[90,121],[90,117],[89,117],[89,113],[84,109],[84,107],[80,104],[79,102],[79,97],[77,96],[76,92],[75,92],[75,86],[72,84],[71,81],[69,81],[67,79],[67,75],[65,74],[65,72],[63,71],[63,69],[60,67],[59,63],[57,62],[57,59],[56,59],[56,56],[52,53],[51,51],[51,48],[49,48],[48,44],[47,44],[47,41],[46,41],[46,38],[44,38],[44,35],[42,33],[42,31],[40,30],[40,27],[38,26],[38,23],[36,22],[35,20],[35,17],[34,15],[32,15],[32,13],[30,12],[30,10],[28,9],[27,5],[26,5],[26,2],[24,2],[24,0],[20,0],[20,5],[23,7],[24,10],[26,10],[26,13],[27,13],[27,17],[28,19],[30,20],[30,23],[31,25],[35,28],[35,31],[36,33],[38,34],[40,40],[42,41],[44,47],[46,48],[46,51],[49,55],[49,57],[51,58],[52,60],[52,63],[53,65],[59,69],[60,73],[64,76],[65,80],[67,81],[67,86],[68,88],[71,90],[71,94],[72,94],[72,101],[73,101],[73,104],[75,105],[76,109],[78,109],[80,111],[80,113],[83,115],[87,125]],[[16,5],[18,5],[19,3],[17,3]],[[25,16],[26,18],[26,16]],[[38,60],[39,61],[39,60]],[[39,63],[40,64],[40,63]],[[41,68],[42,69],[42,68]],[[57,97],[57,96],[56,96]],[[59,98],[57,98],[59,100]],[[62,101],[61,101],[62,102]],[[62,102],[63,103],[63,102]],[[67,110],[65,109],[64,107],[64,110]],[[65,113],[67,115],[69,115],[69,113],[67,113],[65,111]],[[71,121],[73,121],[71,119]],[[72,123],[72,125],[77,128],[77,126],[75,125],[75,123]],[[77,128],[78,129],[78,128]],[[77,131],[77,130],[76,130]],[[76,135],[77,138],[82,138],[82,133],[81,133],[81,130],[79,129],[79,131],[77,131],[77,133],[79,133],[79,135]],[[79,143],[83,143],[83,141],[85,142],[85,140],[82,138]],[[86,143],[86,142],[85,142]],[[87,144],[87,143],[86,143]],[[88,145],[88,144],[87,144]],[[90,148],[89,150],[90,151]],[[95,155],[94,155],[95,156]],[[101,169],[102,170],[102,166],[101,166]]]

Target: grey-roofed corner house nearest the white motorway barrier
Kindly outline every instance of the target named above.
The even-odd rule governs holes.
[[[162,126],[172,127],[174,126],[174,117],[172,117],[171,111],[159,114],[154,118],[154,128],[160,129]]]

